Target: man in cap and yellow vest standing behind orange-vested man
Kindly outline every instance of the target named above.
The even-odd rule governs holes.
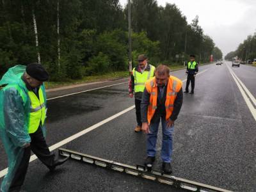
[[[140,103],[142,94],[145,88],[145,82],[154,76],[155,67],[148,64],[148,58],[145,54],[140,54],[138,56],[139,65],[134,67],[132,70],[132,75],[129,81],[129,97],[135,97],[135,109],[136,109],[136,120],[137,125],[134,129],[135,132],[141,131],[141,112]]]

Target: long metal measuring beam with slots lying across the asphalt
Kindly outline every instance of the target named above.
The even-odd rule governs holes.
[[[130,166],[128,164],[116,163],[115,161],[109,161],[107,159],[82,154],[65,148],[59,148],[59,154],[60,156],[69,157],[70,159],[74,159],[76,161],[81,161],[83,163],[93,164],[102,168],[108,168],[109,170],[115,170],[117,172],[142,177],[143,179],[153,180],[161,184],[167,184],[175,188],[186,189],[188,191],[231,192],[226,189],[209,186],[200,182],[182,179],[172,175],[166,175],[163,172],[159,172],[157,170],[151,170],[150,172],[148,172],[145,166]]]

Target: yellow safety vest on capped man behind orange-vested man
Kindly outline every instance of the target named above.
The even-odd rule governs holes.
[[[150,77],[154,76],[155,67],[153,65],[149,65],[150,70],[144,70],[141,74],[136,71],[135,68],[132,70],[132,74],[134,76],[134,92],[143,92],[145,88],[145,82],[150,79]]]

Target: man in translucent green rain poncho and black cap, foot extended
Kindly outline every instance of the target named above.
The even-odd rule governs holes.
[[[67,161],[56,158],[45,142],[48,73],[39,63],[16,65],[0,81],[0,138],[8,156],[8,173],[0,191],[20,191],[28,169],[31,150],[54,170]]]

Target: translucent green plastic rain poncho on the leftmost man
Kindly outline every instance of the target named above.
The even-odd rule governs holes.
[[[24,153],[24,145],[30,143],[28,133],[30,99],[26,84],[21,76],[26,66],[16,65],[10,68],[0,81],[0,138],[8,156],[8,173],[1,184],[0,191],[6,192],[12,184]],[[44,86],[41,86],[43,93]],[[46,97],[44,95],[45,102]],[[46,103],[45,103],[46,104]],[[45,135],[45,129],[43,127]]]

